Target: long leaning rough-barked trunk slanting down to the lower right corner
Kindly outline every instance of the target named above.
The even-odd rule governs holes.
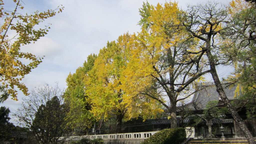
[[[237,122],[237,124],[239,125],[239,127],[242,129],[245,137],[247,138],[248,142],[250,144],[256,144],[251,132],[249,131],[249,129],[247,128],[247,126],[245,125],[244,121],[242,120],[242,118],[238,115],[236,109],[231,105],[230,100],[227,98],[223,87],[220,83],[215,65],[214,65],[214,59],[213,56],[211,55],[211,52],[208,50],[207,51],[207,57],[210,61],[210,68],[211,68],[211,75],[212,78],[214,80],[214,83],[216,85],[217,88],[217,92],[220,95],[220,98],[222,99],[222,101],[224,102],[224,104],[226,105],[228,111],[230,112],[230,114],[232,115],[233,119]]]

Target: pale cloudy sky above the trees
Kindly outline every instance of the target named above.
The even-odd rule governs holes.
[[[145,1],[145,0],[144,0]],[[230,0],[222,0],[228,3]],[[29,90],[43,86],[45,83],[55,85],[57,82],[61,89],[67,88],[66,78],[69,73],[83,65],[87,56],[98,54],[108,41],[129,32],[137,33],[140,26],[139,8],[143,0],[23,0],[22,13],[39,12],[56,9],[64,6],[62,13],[57,13],[38,27],[50,23],[51,29],[46,36],[40,38],[35,44],[21,47],[23,52],[30,52],[37,56],[45,56],[42,63],[33,69],[22,82]],[[150,4],[164,4],[165,0],[148,0]],[[167,0],[167,2],[169,2]],[[196,5],[202,0],[180,0],[178,6],[186,9],[187,4]],[[12,1],[5,0],[4,7],[14,9]],[[219,69],[219,75],[225,75],[226,70]],[[18,93],[18,101],[7,99],[0,106],[9,107],[15,112],[21,106],[22,92]],[[14,121],[14,118],[10,121]]]

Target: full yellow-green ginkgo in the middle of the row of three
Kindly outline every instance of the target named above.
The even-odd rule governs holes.
[[[100,50],[93,68],[87,73],[85,93],[91,103],[91,112],[98,120],[116,116],[119,127],[123,119],[139,115],[146,118],[162,111],[156,101],[139,93],[141,87],[137,79],[128,75],[134,74],[130,68],[137,62],[132,57],[137,52],[135,47],[134,35],[119,36],[117,42],[108,42]]]

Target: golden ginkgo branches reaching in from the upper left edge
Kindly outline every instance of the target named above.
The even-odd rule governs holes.
[[[15,3],[13,11],[8,11],[4,8],[3,0],[0,0],[0,18],[3,19],[0,27],[0,81],[12,99],[17,100],[15,87],[24,95],[28,95],[28,89],[21,80],[43,59],[43,57],[22,52],[22,46],[45,36],[50,29],[49,25],[39,29],[35,26],[57,12],[62,12],[64,7],[23,15],[23,2],[20,0],[13,0],[13,2]],[[25,64],[24,59],[29,60],[29,63]]]

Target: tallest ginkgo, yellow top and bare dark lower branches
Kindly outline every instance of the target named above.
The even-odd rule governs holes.
[[[177,127],[177,103],[192,96],[195,80],[200,81],[209,72],[203,64],[201,49],[196,47],[198,40],[189,39],[185,27],[180,25],[182,14],[176,2],[163,6],[144,3],[139,22],[142,30],[137,36],[141,63],[135,73],[151,77],[153,83],[140,93],[159,101],[168,110],[172,128]]]

